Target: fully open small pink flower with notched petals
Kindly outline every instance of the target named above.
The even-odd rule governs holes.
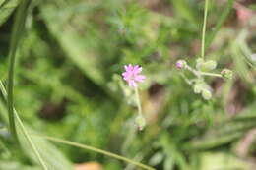
[[[146,76],[140,75],[142,67],[135,65],[134,67],[129,64],[124,66],[125,72],[122,73],[123,79],[129,84],[129,86],[136,87],[137,83],[142,83]]]

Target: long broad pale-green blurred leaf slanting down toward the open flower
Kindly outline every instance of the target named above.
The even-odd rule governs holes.
[[[103,56],[97,56],[94,47],[88,43],[88,39],[83,38],[86,34],[79,34],[76,28],[67,23],[70,16],[58,15],[61,13],[61,10],[55,5],[45,4],[41,6],[40,10],[47,28],[57,39],[71,62],[96,85],[103,85],[105,77],[103,76],[104,72],[100,63]]]

